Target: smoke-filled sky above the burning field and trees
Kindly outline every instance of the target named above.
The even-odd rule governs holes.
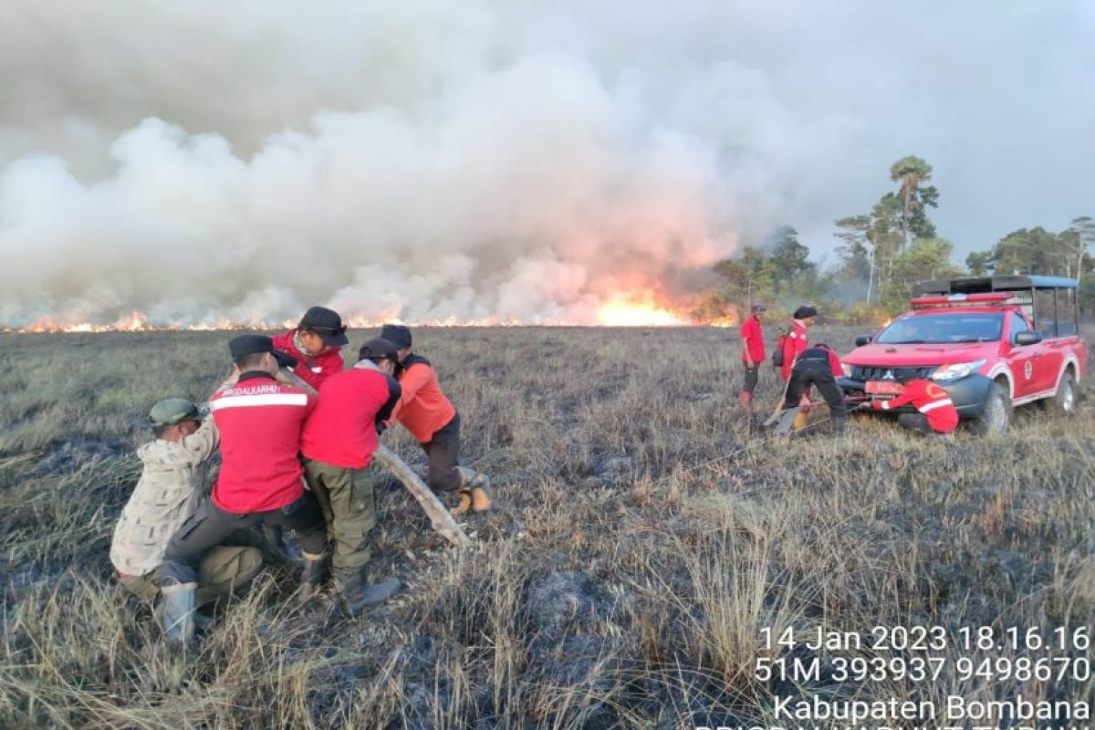
[[[959,248],[1092,212],[1092,2],[877,5],[10,0],[0,324],[595,323],[909,153]]]

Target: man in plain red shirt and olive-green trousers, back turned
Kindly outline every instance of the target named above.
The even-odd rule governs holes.
[[[388,420],[400,399],[400,385],[391,375],[396,360],[395,346],[385,339],[362,345],[357,364],[320,386],[315,410],[301,436],[304,478],[326,518],[333,543],[331,567],[351,616],[400,589],[395,578],[370,586],[365,576],[369,532],[377,524],[368,466],[377,450],[378,424]],[[306,577],[306,596],[322,581],[323,567],[315,565]]]

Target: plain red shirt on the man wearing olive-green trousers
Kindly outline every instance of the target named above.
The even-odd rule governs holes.
[[[377,416],[391,397],[388,383],[388,375],[368,360],[328,378],[304,424],[304,456],[343,468],[368,466],[377,450]]]

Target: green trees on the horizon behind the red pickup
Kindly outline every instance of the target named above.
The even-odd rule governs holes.
[[[1006,234],[991,247],[969,254],[959,265],[954,245],[941,236],[930,210],[938,208],[932,166],[918,157],[890,166],[894,187],[864,213],[833,222],[840,240],[833,265],[809,257],[797,231],[779,227],[714,266],[718,285],[696,308],[700,318],[748,311],[762,301],[776,310],[812,302],[840,322],[879,321],[908,309],[912,286],[954,276],[1031,274],[1080,280],[1080,305],[1095,311],[1095,221],[1076,218],[1060,232],[1037,227]]]

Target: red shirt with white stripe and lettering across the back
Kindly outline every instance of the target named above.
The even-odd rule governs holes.
[[[300,431],[315,398],[283,385],[264,372],[245,372],[240,382],[209,399],[220,431],[223,464],[212,501],[226,512],[266,512],[300,498]]]

